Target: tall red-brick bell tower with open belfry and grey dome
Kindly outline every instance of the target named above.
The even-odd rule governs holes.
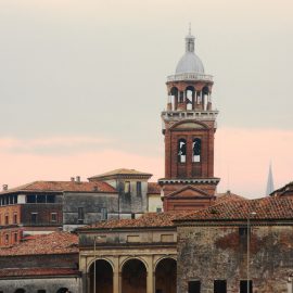
[[[186,37],[186,53],[167,78],[167,110],[162,112],[165,136],[164,211],[200,209],[215,200],[213,77],[194,53],[194,37]]]

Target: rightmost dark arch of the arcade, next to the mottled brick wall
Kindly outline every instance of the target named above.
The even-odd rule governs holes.
[[[155,267],[155,293],[176,293],[177,262],[163,258]]]

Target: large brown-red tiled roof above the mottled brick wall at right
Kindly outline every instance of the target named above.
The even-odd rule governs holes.
[[[252,215],[251,213],[256,213]],[[293,220],[293,199],[291,198],[264,198],[258,200],[222,202],[208,208],[193,212],[179,220],[246,220],[253,219]]]

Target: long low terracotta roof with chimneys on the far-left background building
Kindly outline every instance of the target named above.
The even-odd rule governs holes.
[[[116,192],[116,190],[106,182],[77,182],[77,181],[35,181],[14,189],[9,189],[0,194],[11,192]]]

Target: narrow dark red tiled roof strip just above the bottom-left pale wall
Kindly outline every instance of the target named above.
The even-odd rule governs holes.
[[[79,271],[72,268],[13,268],[0,269],[0,278],[31,276],[78,276]]]

